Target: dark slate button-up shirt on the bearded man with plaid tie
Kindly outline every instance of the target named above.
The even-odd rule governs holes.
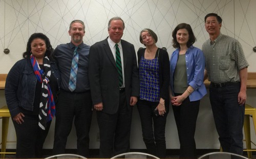
[[[70,92],[69,90],[69,78],[71,71],[71,64],[75,45],[70,42],[66,44],[60,44],[54,50],[54,57],[57,60],[58,68],[61,75],[60,88]],[[89,65],[89,50],[90,46],[85,43],[81,43],[78,46],[78,70],[76,79],[76,89],[73,93],[82,93],[90,90],[89,77],[88,77],[88,65]]]

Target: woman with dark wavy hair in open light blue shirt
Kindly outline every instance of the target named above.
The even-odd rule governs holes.
[[[194,47],[196,37],[188,24],[173,31],[170,58],[170,98],[180,140],[180,158],[197,158],[194,139],[200,99],[206,94],[203,82],[205,59]]]

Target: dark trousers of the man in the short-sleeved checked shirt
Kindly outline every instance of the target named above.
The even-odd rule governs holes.
[[[238,104],[240,83],[218,88],[210,85],[209,92],[212,113],[223,151],[242,155],[245,105]]]

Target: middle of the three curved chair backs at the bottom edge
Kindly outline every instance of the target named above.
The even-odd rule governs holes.
[[[160,159],[157,156],[154,156],[154,155],[148,154],[148,153],[143,153],[143,152],[126,152],[126,153],[118,154],[112,158],[155,158],[155,159]]]

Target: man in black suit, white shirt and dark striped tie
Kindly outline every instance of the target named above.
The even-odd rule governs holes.
[[[123,30],[123,20],[111,18],[109,37],[96,42],[89,53],[89,80],[97,111],[102,158],[130,150],[132,107],[139,96],[136,53],[133,44],[121,40]],[[116,59],[121,60],[121,70]]]

